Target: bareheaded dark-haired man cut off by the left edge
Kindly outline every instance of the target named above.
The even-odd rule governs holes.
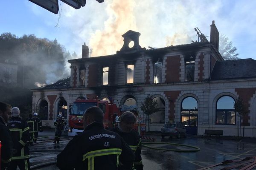
[[[12,159],[12,137],[11,132],[7,126],[7,122],[12,118],[12,107],[7,103],[0,102],[0,169],[5,170],[9,166]]]

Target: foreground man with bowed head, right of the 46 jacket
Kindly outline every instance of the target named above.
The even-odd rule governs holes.
[[[141,153],[141,139],[139,133],[133,129],[137,117],[134,113],[126,111],[120,116],[120,121],[117,127],[112,128],[113,132],[118,133],[125,142],[131,147],[135,153],[134,168],[136,170],[143,170]]]

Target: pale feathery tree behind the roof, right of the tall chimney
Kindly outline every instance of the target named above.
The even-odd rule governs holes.
[[[219,52],[224,60],[240,59],[238,53],[236,53],[237,48],[233,47],[232,41],[229,41],[226,35],[221,34],[219,37]]]

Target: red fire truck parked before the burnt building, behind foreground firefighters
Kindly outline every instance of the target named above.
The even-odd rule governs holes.
[[[117,106],[118,105],[118,106]],[[104,113],[103,125],[105,129],[114,127],[118,122],[118,117],[122,114],[119,109],[119,104],[116,99],[109,97],[108,99],[77,99],[69,107],[68,136],[75,136],[84,131],[83,114],[87,108],[98,106]],[[137,130],[141,136],[145,134],[145,124],[135,123],[134,129]]]

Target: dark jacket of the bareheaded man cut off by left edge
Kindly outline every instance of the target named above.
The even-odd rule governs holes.
[[[2,116],[0,116],[0,141],[2,145],[0,168],[4,170],[11,162],[13,143],[11,132]]]

